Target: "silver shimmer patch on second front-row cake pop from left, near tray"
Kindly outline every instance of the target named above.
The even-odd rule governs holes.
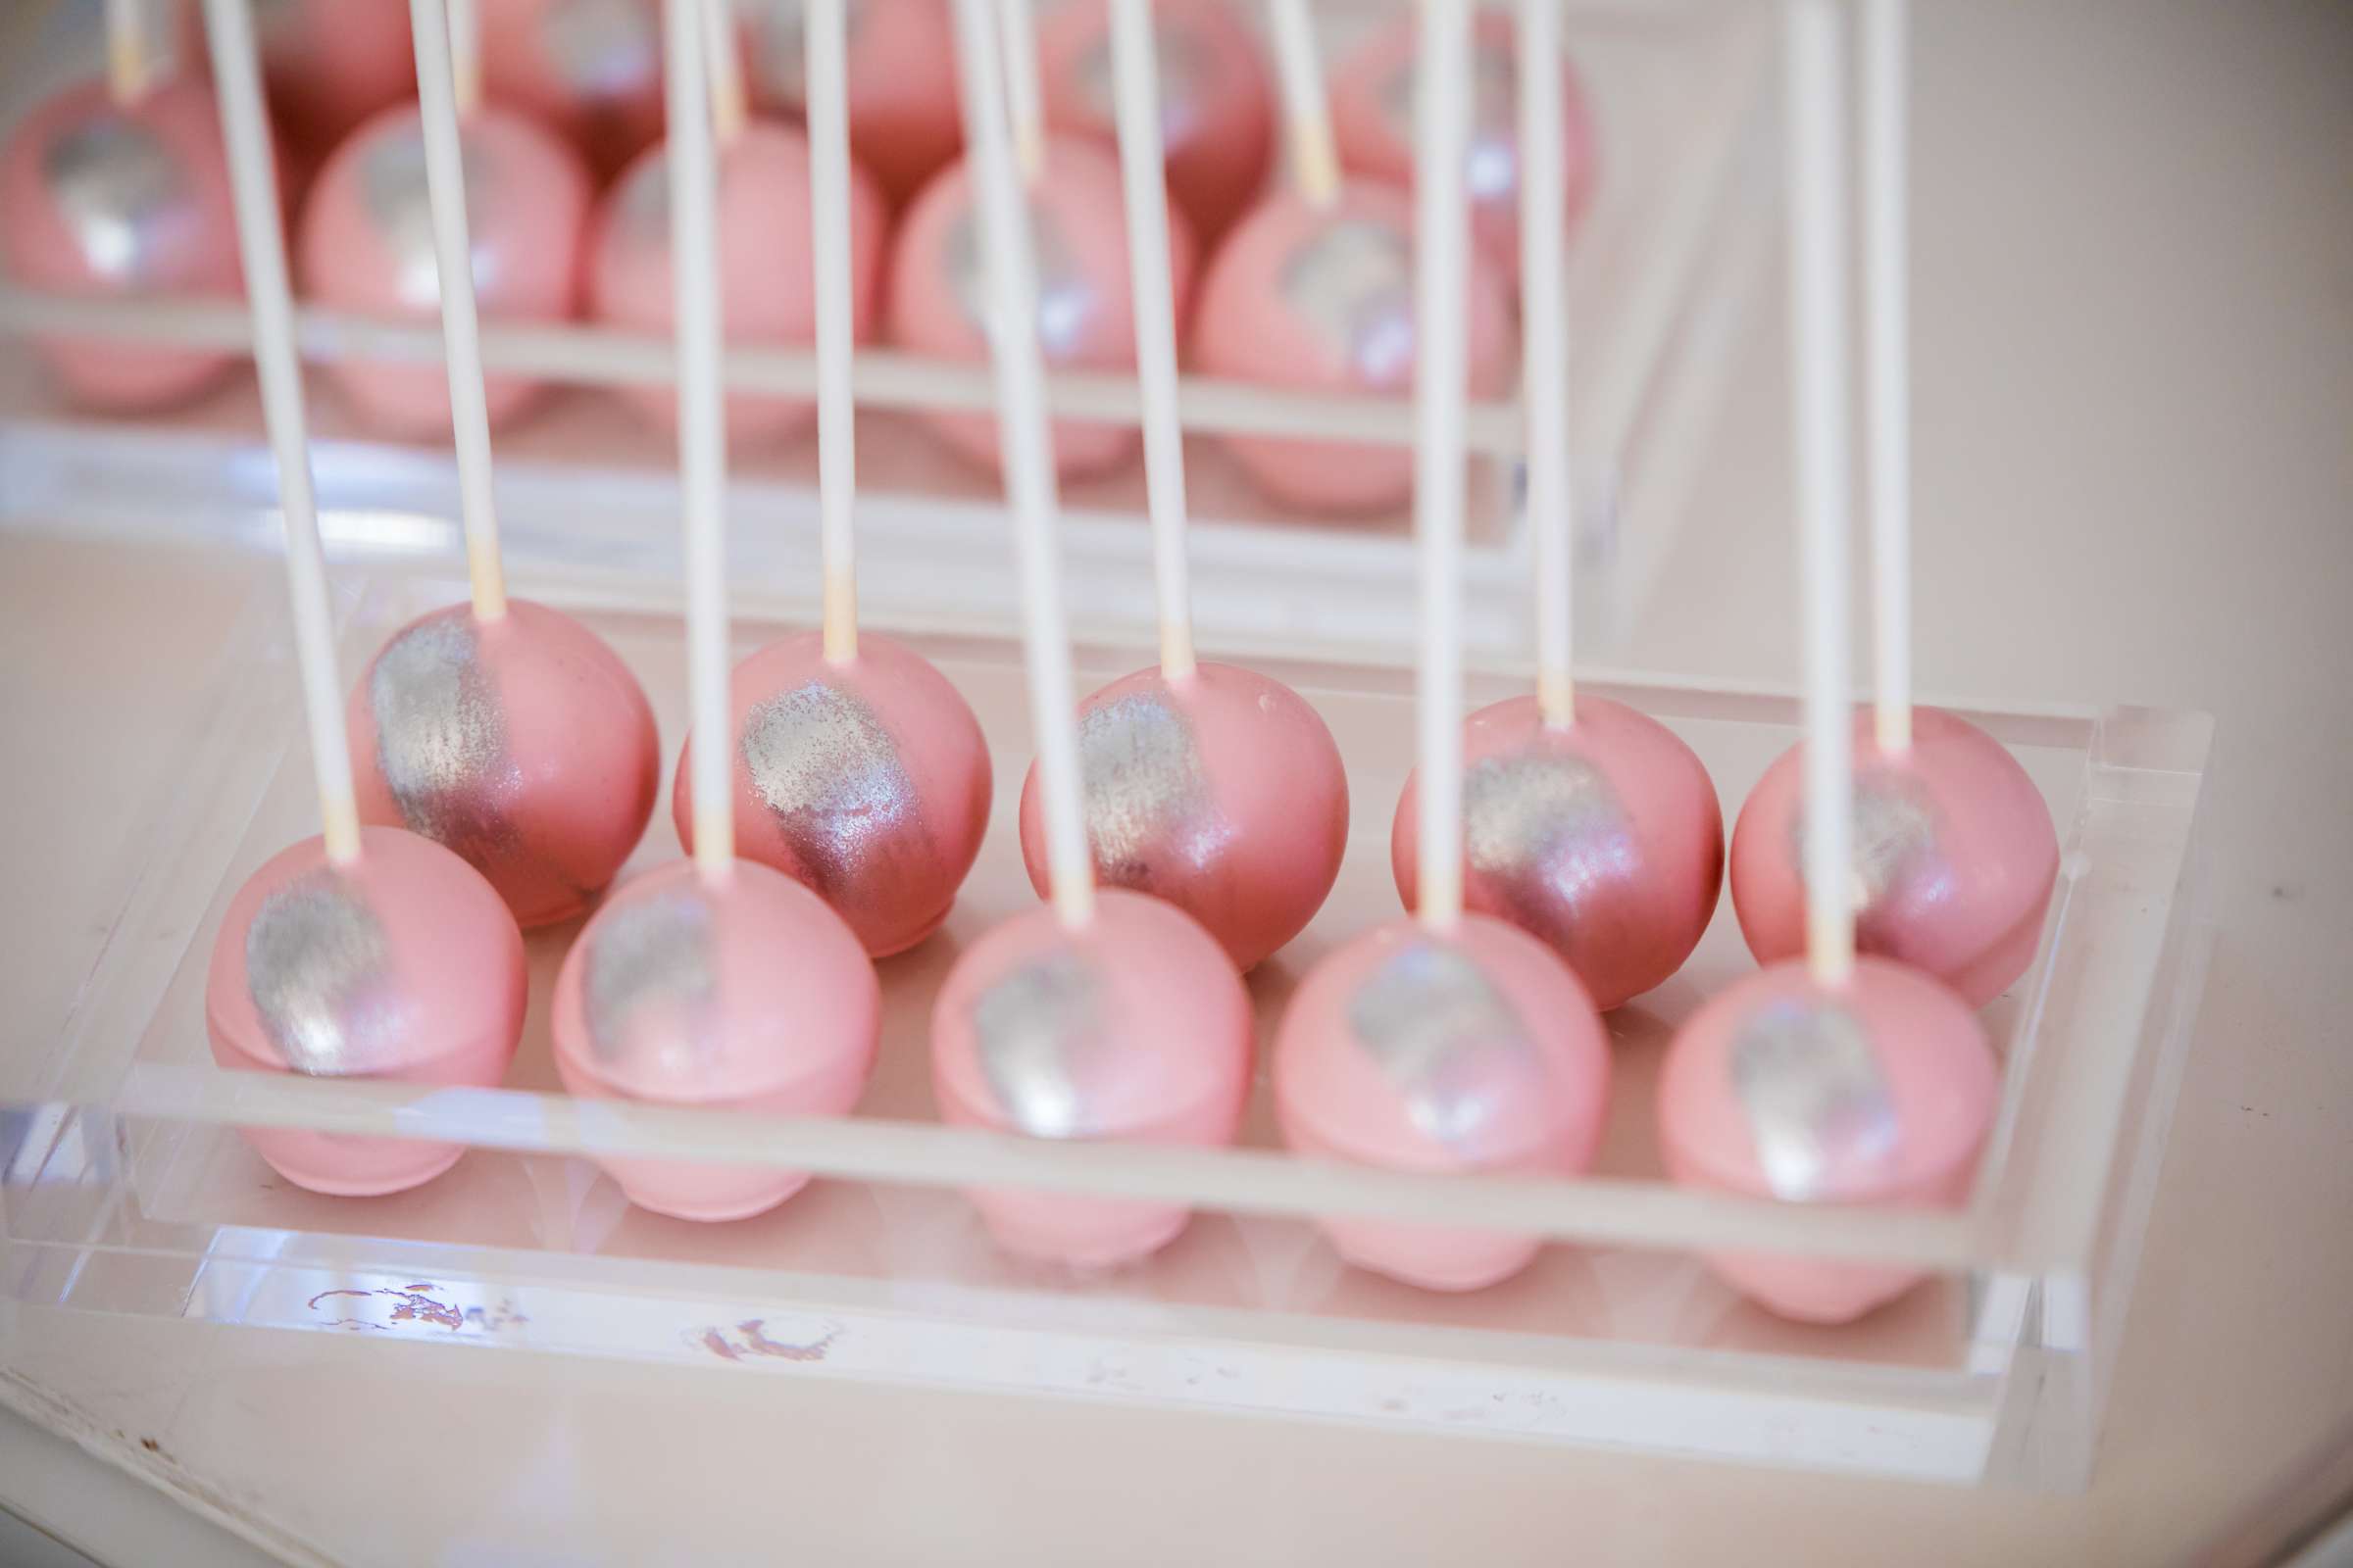
[[[699,889],[614,903],[588,936],[581,1016],[588,1046],[664,1079],[711,1053],[718,950]]]

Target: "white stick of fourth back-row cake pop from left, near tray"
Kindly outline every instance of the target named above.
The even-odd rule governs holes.
[[[1569,484],[1569,200],[1560,169],[1560,0],[1520,0],[1520,376],[1537,536],[1537,708],[1577,717],[1577,487]]]

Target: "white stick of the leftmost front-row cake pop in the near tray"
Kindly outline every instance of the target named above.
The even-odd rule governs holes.
[[[311,724],[320,832],[327,860],[351,865],[360,858],[360,802],[351,788],[344,682],[334,672],[334,614],[327,607],[327,562],[318,545],[318,498],[311,494],[311,435],[304,428],[301,357],[294,353],[294,294],[287,289],[285,235],[278,228],[278,167],[271,160],[247,0],[205,0],[205,33],[212,38],[212,80],[228,143],[245,296],[254,313],[261,423],[278,456],[278,510],[287,527],[287,588],[294,599],[294,663],[301,668],[304,717]]]

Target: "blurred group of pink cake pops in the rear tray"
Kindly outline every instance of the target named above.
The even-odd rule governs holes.
[[[904,66],[882,47],[868,47],[861,56],[864,33],[882,40],[920,38],[927,56],[944,56],[944,28],[927,33],[892,9],[925,5],[939,7],[941,0],[892,0],[852,14],[852,146],[868,160],[894,136],[913,136],[925,146],[939,141],[918,134],[904,113],[868,106],[866,136],[859,120],[859,94],[866,89],[861,59],[866,75],[878,82],[868,92],[885,94],[889,103],[899,103],[889,94],[904,94],[908,78],[920,75],[920,68]],[[332,96],[336,106],[374,103],[386,87],[400,92],[405,73],[386,73],[381,61],[386,45],[395,42],[395,28],[381,12],[398,12],[398,5],[369,2],[355,9],[360,16],[348,26],[329,24],[318,5],[273,9],[271,33],[285,42],[285,68],[273,80],[287,85],[280,94],[292,106],[285,110],[287,120],[313,129],[339,125],[315,113],[320,80],[339,73],[355,80],[348,92]],[[1014,9],[1026,16],[1026,7]],[[1325,101],[1304,0],[1273,0],[1273,9],[1285,92],[1292,99],[1287,120],[1297,127],[1294,181],[1249,207],[1233,235],[1217,247],[1198,289],[1198,308],[1193,275],[1200,244],[1233,226],[1266,183],[1268,92],[1252,31],[1224,0],[1181,0],[1155,12],[1162,122],[1174,127],[1167,183],[1179,209],[1167,242],[1179,320],[1191,317],[1191,360],[1207,374],[1271,386],[1402,393],[1414,360],[1409,16],[1377,33]],[[485,5],[475,42],[468,47],[468,38],[459,38],[461,61],[478,56],[473,68],[459,71],[478,308],[485,317],[506,322],[586,315],[614,327],[668,331],[664,158],[659,146],[645,146],[654,122],[638,113],[635,89],[616,87],[645,78],[642,89],[652,92],[649,73],[659,61],[652,12],[602,5],[595,14],[605,16],[609,33],[591,31],[562,0]],[[635,19],[645,38],[624,47],[628,19]],[[776,16],[760,14],[755,35],[765,38],[779,26]],[[1016,19],[1012,26],[1028,38],[1026,21]],[[525,54],[520,40],[536,35],[572,38],[576,54],[567,59],[576,61],[605,61],[602,52],[614,52],[612,61],[598,71],[584,68],[576,78],[612,94],[598,99],[595,113],[579,106],[567,110],[527,87],[541,78],[522,73],[513,61]],[[1478,393],[1497,393],[1511,360],[1508,277],[1518,273],[1522,158],[1511,21],[1485,16],[1480,38],[1478,101],[1485,129],[1468,176],[1478,190],[1487,244],[1466,282],[1473,320],[1468,374]],[[127,52],[136,54],[134,47],[115,49],[118,56]],[[395,54],[405,59],[407,49]],[[772,54],[774,49],[753,49],[755,61]],[[1035,52],[1019,49],[1009,59],[1028,59],[1028,78],[1038,78],[1033,54],[1045,63],[1042,80],[1031,80],[1026,92],[1012,96],[1040,270],[1040,341],[1056,367],[1129,369],[1134,299],[1127,233],[1113,216],[1120,209],[1120,169],[1104,146],[1111,136],[1111,103],[1101,2],[1054,12]],[[711,56],[715,80],[734,82],[718,94],[720,289],[729,339],[807,343],[814,329],[805,216],[807,141],[786,120],[751,118],[744,110],[744,82],[732,75],[739,68],[734,49],[713,45]],[[1591,132],[1567,59],[1558,49],[1551,56],[1562,73],[1562,139],[1560,158],[1546,162],[1558,169],[1558,209],[1567,223],[1593,179]],[[621,68],[621,59],[635,63]],[[793,63],[802,71],[798,56]],[[362,75],[367,80],[358,80]],[[501,82],[520,85],[501,96]],[[927,113],[953,120],[953,92],[941,94],[929,101]],[[619,169],[602,197],[576,150],[548,129],[558,125],[579,132],[584,125],[640,120],[645,136],[635,143],[642,150]],[[946,150],[953,153],[953,139]],[[193,80],[132,87],[115,80],[52,99],[19,127],[7,150],[9,273],[21,282],[66,292],[233,292],[235,247],[216,153],[209,94]],[[308,181],[296,219],[301,292],[362,317],[431,317],[438,280],[414,106],[388,103],[351,125],[332,148],[311,148],[308,155],[322,158],[322,165]],[[904,172],[904,165],[889,167]],[[1346,179],[1341,167],[1348,169]],[[892,240],[887,188],[887,181],[864,169],[852,176],[849,308],[856,336],[871,336],[880,315],[882,334],[901,348],[976,360],[984,334],[969,169],[929,167],[920,188],[908,188],[913,202]],[[195,350],[96,343],[49,348],[66,388],[85,402],[108,407],[174,402],[202,390],[228,367],[224,355]],[[374,428],[412,437],[447,428],[447,393],[435,367],[362,357],[334,362],[332,374]],[[529,378],[494,376],[492,421],[520,416],[541,390]],[[668,421],[675,407],[668,388],[638,390],[635,402],[656,421]],[[727,414],[739,442],[781,440],[809,423],[807,404],[786,397],[734,395]],[[944,414],[934,425],[969,458],[995,458],[986,418]],[[1056,461],[1066,477],[1104,473],[1132,456],[1134,440],[1129,428],[1068,421],[1056,428]],[[1292,505],[1377,510],[1407,494],[1409,468],[1402,451],[1266,437],[1235,437],[1231,447],[1266,491]]]

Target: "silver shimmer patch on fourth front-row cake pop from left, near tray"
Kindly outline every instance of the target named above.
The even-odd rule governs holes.
[[[1480,1154],[1508,1103],[1541,1093],[1527,1025],[1452,947],[1412,940],[1384,959],[1348,999],[1348,1027],[1414,1126],[1457,1154]]]

